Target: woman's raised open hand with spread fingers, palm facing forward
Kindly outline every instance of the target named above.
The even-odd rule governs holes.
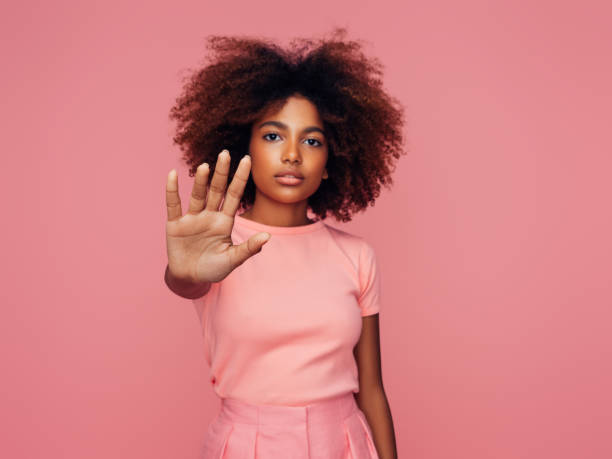
[[[189,210],[185,215],[181,211],[177,173],[172,170],[168,174],[166,247],[168,269],[176,278],[193,283],[219,282],[249,257],[259,253],[270,238],[268,233],[256,233],[242,244],[232,243],[234,216],[251,170],[250,156],[240,160],[224,197],[229,168],[230,155],[223,150],[217,157],[207,192],[209,166],[203,163],[198,167]],[[223,206],[219,210],[222,200]]]

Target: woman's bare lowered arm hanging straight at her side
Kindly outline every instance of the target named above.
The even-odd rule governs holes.
[[[353,353],[359,368],[359,392],[355,401],[372,428],[380,459],[397,459],[393,418],[382,382],[378,314],[362,319],[361,337]]]

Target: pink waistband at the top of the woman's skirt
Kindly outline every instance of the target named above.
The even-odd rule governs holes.
[[[233,398],[221,398],[219,416],[231,423],[290,425],[342,422],[357,409],[352,392],[304,406],[254,405]]]

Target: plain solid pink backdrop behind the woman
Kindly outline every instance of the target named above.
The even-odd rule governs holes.
[[[218,405],[163,282],[166,174],[192,183],[168,110],[206,35],[338,25],[406,106],[395,186],[332,222],[380,260],[399,456],[612,457],[609,2],[2,10],[0,456],[197,457]]]

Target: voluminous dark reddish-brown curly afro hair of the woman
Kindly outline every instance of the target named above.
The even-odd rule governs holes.
[[[373,205],[381,184],[393,181],[402,150],[403,107],[382,88],[382,65],[357,41],[335,28],[329,39],[293,39],[283,49],[265,38],[208,36],[205,65],[185,78],[170,110],[173,137],[193,177],[207,162],[213,173],[219,152],[231,155],[230,177],[248,153],[251,126],[268,109],[281,109],[299,94],[319,111],[328,141],[329,178],[308,198],[320,219],[343,222]],[[249,176],[240,208],[255,201]]]

